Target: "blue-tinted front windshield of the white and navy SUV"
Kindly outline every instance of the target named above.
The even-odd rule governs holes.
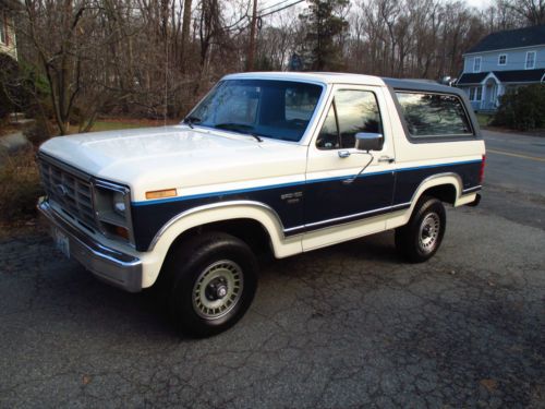
[[[323,87],[270,80],[221,81],[184,120],[254,136],[299,142]]]

